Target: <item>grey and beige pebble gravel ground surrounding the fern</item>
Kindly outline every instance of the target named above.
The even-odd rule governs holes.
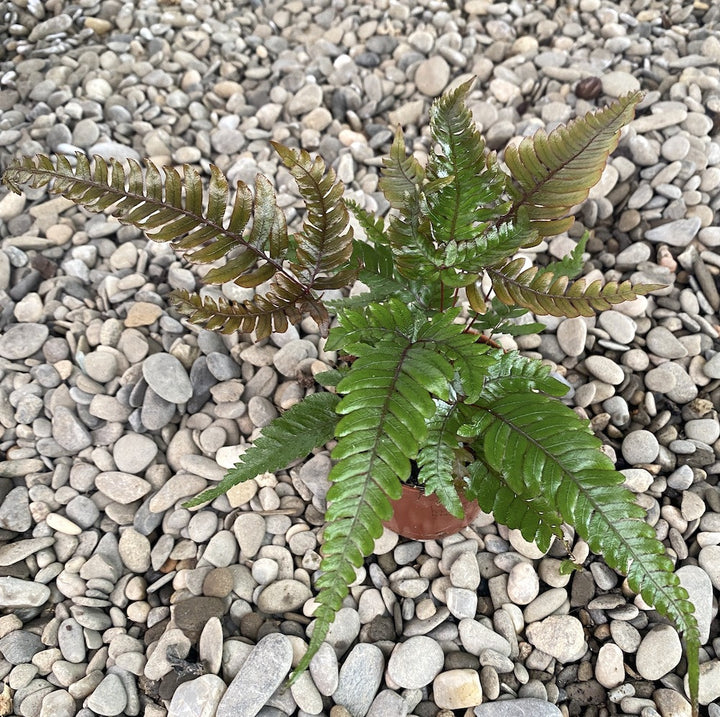
[[[667,288],[517,343],[566,376],[680,568],[719,717],[719,18],[710,0],[5,0],[0,164],[212,161],[273,177],[292,221],[275,139],[385,211],[392,126],[422,156],[432,98],[468,74],[492,148],[643,89],[575,226],[538,251],[591,229],[587,276]],[[0,714],[690,714],[681,641],[622,577],[570,534],[586,569],[562,575],[562,549],[486,515],[442,542],[386,533],[277,692],[307,643],[328,452],[181,504],[335,357],[312,321],[255,346],[187,326],[166,295],[199,278],[110,217],[0,197]]]

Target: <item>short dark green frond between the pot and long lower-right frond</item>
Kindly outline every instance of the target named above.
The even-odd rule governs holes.
[[[482,456],[481,447],[473,444],[476,456]],[[550,549],[555,536],[562,537],[562,517],[543,496],[516,493],[498,471],[483,460],[471,463],[468,468],[465,494],[477,501],[486,513],[492,513],[498,523],[519,530],[528,542],[534,542],[542,551]]]

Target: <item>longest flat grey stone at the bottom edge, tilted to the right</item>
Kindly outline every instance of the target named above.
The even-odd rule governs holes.
[[[216,717],[257,714],[285,679],[292,657],[292,646],[285,635],[272,633],[263,637],[228,685]]]

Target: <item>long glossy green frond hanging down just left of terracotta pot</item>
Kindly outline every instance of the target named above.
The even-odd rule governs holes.
[[[427,436],[426,420],[435,413],[436,355],[399,331],[386,333],[374,346],[354,346],[358,358],[337,385],[344,396],[336,407],[342,418],[329,476],[317,619],[291,682],[319,649],[355,568],[372,553],[382,521],[392,516],[390,500],[400,497],[410,459]],[[452,375],[449,365],[446,373]]]

